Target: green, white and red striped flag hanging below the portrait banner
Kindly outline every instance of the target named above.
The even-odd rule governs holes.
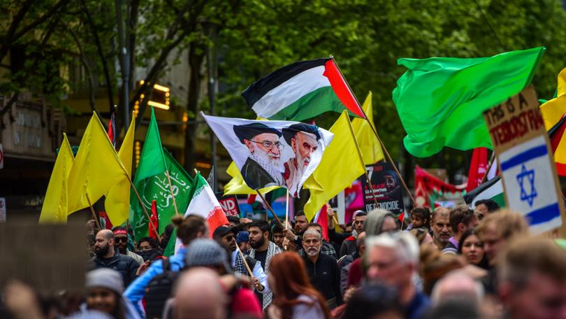
[[[218,199],[216,199],[215,193],[212,192],[212,189],[201,173],[196,173],[193,180],[192,192],[189,197],[191,201],[189,202],[187,211],[184,212],[184,217],[191,214],[203,216],[203,218],[208,221],[208,231],[211,237],[217,227],[229,224],[228,218],[226,218],[222,206],[220,206]],[[177,250],[182,246],[182,243],[178,237],[175,236],[175,238],[176,254]]]

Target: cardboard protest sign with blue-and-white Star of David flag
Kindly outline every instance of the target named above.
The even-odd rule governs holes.
[[[484,112],[498,157],[507,206],[533,234],[563,224],[564,204],[539,103],[532,87]]]

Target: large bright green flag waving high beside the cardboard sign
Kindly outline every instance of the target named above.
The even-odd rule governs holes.
[[[398,59],[407,71],[393,90],[405,148],[416,157],[444,146],[491,148],[482,112],[521,92],[537,69],[544,47],[493,57]]]

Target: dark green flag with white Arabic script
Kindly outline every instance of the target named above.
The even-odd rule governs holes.
[[[173,186],[173,194],[175,194],[175,201],[177,203],[177,211],[180,215],[184,215],[187,210],[191,197],[191,187],[193,185],[193,178],[184,171],[182,166],[170,155],[166,150],[163,152],[165,155],[166,165],[169,167],[171,178],[171,185]],[[157,201],[157,217],[159,219],[159,234],[163,234],[165,227],[171,222],[171,218],[175,215],[175,206],[173,206],[173,199],[169,190],[169,182],[164,172],[151,176],[145,180],[140,180],[136,183],[136,189],[140,193],[147,213],[151,214],[152,200]],[[131,192],[130,207],[133,210],[133,235],[136,241],[148,235],[150,221],[143,212],[140,202],[136,198],[136,194]]]

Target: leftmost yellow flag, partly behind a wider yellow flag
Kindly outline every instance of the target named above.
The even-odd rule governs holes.
[[[45,192],[45,200],[39,215],[40,224],[65,223],[68,215],[68,188],[67,177],[71,172],[75,157],[71,145],[68,143],[67,134],[63,133],[63,142],[55,160],[55,166],[49,178],[48,190]]]

